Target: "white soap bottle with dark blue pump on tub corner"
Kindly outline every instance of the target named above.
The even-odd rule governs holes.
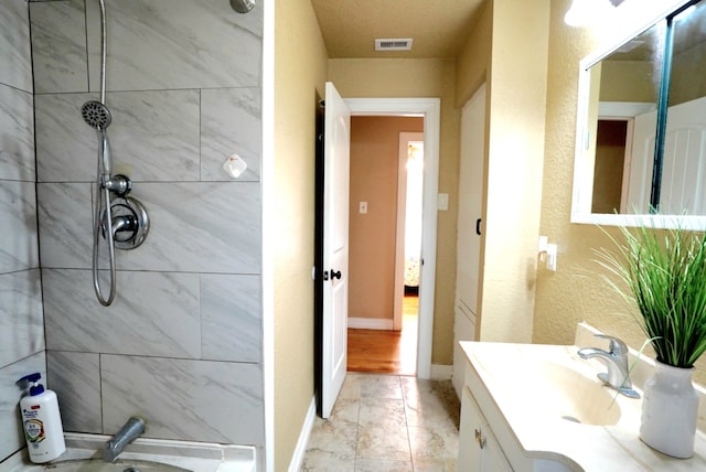
[[[30,386],[29,395],[20,400],[22,427],[30,460],[35,463],[53,461],[64,453],[64,430],[56,394],[40,384],[40,373],[25,375],[18,384]]]

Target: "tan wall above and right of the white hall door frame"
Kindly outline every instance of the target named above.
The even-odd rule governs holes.
[[[450,365],[453,358],[453,297],[456,285],[456,222],[458,206],[459,124],[453,108],[456,67],[451,60],[329,61],[329,79],[343,98],[440,97],[441,136],[439,192],[449,194],[449,210],[439,212],[437,278],[431,362]]]

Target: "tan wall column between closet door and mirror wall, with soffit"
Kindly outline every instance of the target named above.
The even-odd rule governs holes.
[[[458,58],[458,106],[488,84],[483,269],[477,313],[482,341],[532,340],[548,10],[548,0],[488,2]]]

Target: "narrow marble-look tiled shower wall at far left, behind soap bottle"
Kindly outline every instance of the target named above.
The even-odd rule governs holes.
[[[45,374],[29,8],[0,0],[0,461],[24,447],[14,385]]]

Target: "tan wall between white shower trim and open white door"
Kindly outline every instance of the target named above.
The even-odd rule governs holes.
[[[313,397],[314,143],[327,52],[309,0],[275,17],[275,466],[287,470]],[[301,54],[307,51],[307,54]]]

